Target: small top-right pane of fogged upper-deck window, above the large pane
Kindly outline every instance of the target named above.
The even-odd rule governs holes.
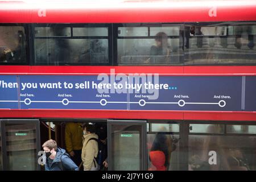
[[[74,27],[73,36],[108,36],[107,27]]]

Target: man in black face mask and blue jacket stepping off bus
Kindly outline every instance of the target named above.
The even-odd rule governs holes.
[[[46,152],[46,171],[78,171],[79,167],[69,158],[69,155],[63,148],[57,147],[55,140],[47,140],[43,144]]]

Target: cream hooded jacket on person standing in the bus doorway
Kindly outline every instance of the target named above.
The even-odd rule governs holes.
[[[88,142],[90,138],[98,139],[98,135],[93,133],[84,135],[81,157],[85,171],[89,171],[92,168],[94,165],[93,160],[97,158],[98,155],[98,143],[95,140]]]

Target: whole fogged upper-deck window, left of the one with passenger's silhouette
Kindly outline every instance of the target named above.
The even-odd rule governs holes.
[[[109,64],[108,27],[36,27],[35,30],[35,64]]]

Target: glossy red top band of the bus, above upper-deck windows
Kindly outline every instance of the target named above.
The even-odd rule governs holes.
[[[0,23],[173,23],[256,20],[245,1],[0,1]]]

